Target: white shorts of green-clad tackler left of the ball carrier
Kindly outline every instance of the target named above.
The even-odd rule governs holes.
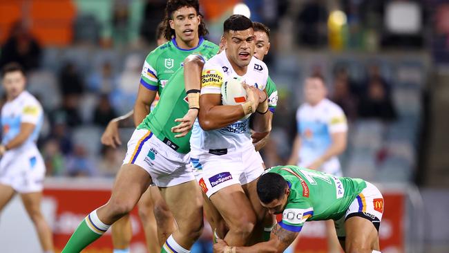
[[[195,180],[189,153],[171,149],[146,129],[134,131],[128,141],[128,151],[123,163],[142,167],[158,187],[171,187]]]

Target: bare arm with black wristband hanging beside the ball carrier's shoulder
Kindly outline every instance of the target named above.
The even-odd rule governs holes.
[[[176,138],[187,135],[198,116],[198,111],[200,110],[200,80],[203,66],[204,60],[199,55],[189,55],[184,59],[184,86],[189,98],[189,111],[183,118],[175,120],[175,122],[180,122],[178,126],[171,129],[173,133],[180,133],[175,135]]]

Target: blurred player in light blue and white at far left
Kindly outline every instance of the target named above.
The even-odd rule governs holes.
[[[19,193],[37,230],[42,250],[53,252],[52,231],[41,213],[45,165],[36,147],[44,121],[41,104],[25,90],[26,77],[17,63],[3,66],[6,103],[1,109],[0,211]]]

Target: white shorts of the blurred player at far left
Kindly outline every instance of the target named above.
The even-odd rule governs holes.
[[[35,145],[6,151],[0,160],[0,184],[26,194],[44,189],[44,159]]]

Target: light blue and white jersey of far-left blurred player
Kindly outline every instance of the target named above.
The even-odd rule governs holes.
[[[1,109],[2,144],[8,144],[20,132],[21,123],[35,124],[35,129],[30,137],[23,143],[34,144],[39,137],[42,123],[44,122],[44,111],[37,99],[23,91],[14,100],[6,102]]]

